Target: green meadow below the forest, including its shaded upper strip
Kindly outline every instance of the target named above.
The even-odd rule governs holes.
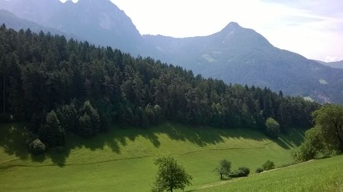
[[[113,127],[92,139],[69,135],[65,149],[31,156],[24,133],[21,124],[0,126],[3,191],[149,191],[154,159],[162,154],[174,154],[194,177],[189,189],[197,189],[218,181],[213,169],[220,159],[252,170],[267,159],[283,165],[292,161],[289,149],[302,139],[297,131],[272,141],[255,131],[166,123]]]

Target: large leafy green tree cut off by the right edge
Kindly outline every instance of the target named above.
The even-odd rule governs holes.
[[[316,126],[322,128],[325,142],[343,152],[343,106],[324,105],[312,115]]]

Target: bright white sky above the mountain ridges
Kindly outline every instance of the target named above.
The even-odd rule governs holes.
[[[309,59],[343,60],[342,0],[110,1],[141,34],[208,36],[233,21],[261,33],[280,49]]]

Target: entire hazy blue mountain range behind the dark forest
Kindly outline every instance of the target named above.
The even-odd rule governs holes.
[[[274,47],[252,29],[229,23],[210,36],[171,38],[141,35],[132,20],[108,0],[0,0],[1,9],[101,46],[113,46],[193,70],[204,77],[270,87],[319,102],[343,102],[343,70]],[[0,14],[0,22],[3,14]],[[31,23],[31,24],[32,24]],[[16,29],[29,26],[16,26]]]

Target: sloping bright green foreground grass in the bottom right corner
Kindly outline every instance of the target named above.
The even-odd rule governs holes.
[[[198,192],[343,191],[343,155],[309,161],[248,178],[204,185]]]

